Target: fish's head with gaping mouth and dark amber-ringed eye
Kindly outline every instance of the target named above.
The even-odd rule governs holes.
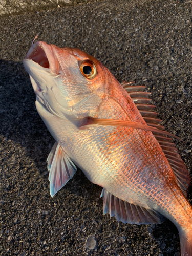
[[[97,116],[99,104],[108,94],[106,81],[111,73],[79,49],[38,41],[28,51],[24,66],[36,100],[58,117]]]

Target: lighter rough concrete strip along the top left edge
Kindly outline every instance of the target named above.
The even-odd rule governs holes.
[[[0,15],[22,14],[24,12],[38,12],[51,8],[62,8],[75,5],[89,5],[102,0],[0,0]]]

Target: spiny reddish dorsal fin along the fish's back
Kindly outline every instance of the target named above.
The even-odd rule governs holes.
[[[122,83],[122,86],[131,96],[133,102],[136,104],[137,109],[141,113],[146,124],[156,127],[159,130],[164,130],[164,126],[160,125],[162,120],[156,118],[158,113],[153,112],[155,106],[151,105],[152,100],[148,98],[150,96],[150,93],[144,92],[144,89],[146,87],[133,86],[133,82],[129,83],[125,81]],[[177,148],[175,147],[175,144],[170,142],[170,138],[160,135],[158,134],[158,132],[153,132],[153,134],[159,142],[162,151],[164,152],[170,166],[173,169],[173,172],[178,181],[178,185],[180,186],[184,195],[187,196],[191,178],[183,160],[181,159],[181,156],[179,155]]]

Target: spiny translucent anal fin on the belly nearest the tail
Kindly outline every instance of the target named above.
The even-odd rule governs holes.
[[[115,216],[117,221],[130,224],[160,224],[165,218],[153,209],[125,202],[103,188],[103,214]]]

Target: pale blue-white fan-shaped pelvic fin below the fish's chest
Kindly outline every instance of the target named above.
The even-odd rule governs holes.
[[[57,142],[53,145],[47,162],[50,194],[53,197],[73,177],[77,168]]]

